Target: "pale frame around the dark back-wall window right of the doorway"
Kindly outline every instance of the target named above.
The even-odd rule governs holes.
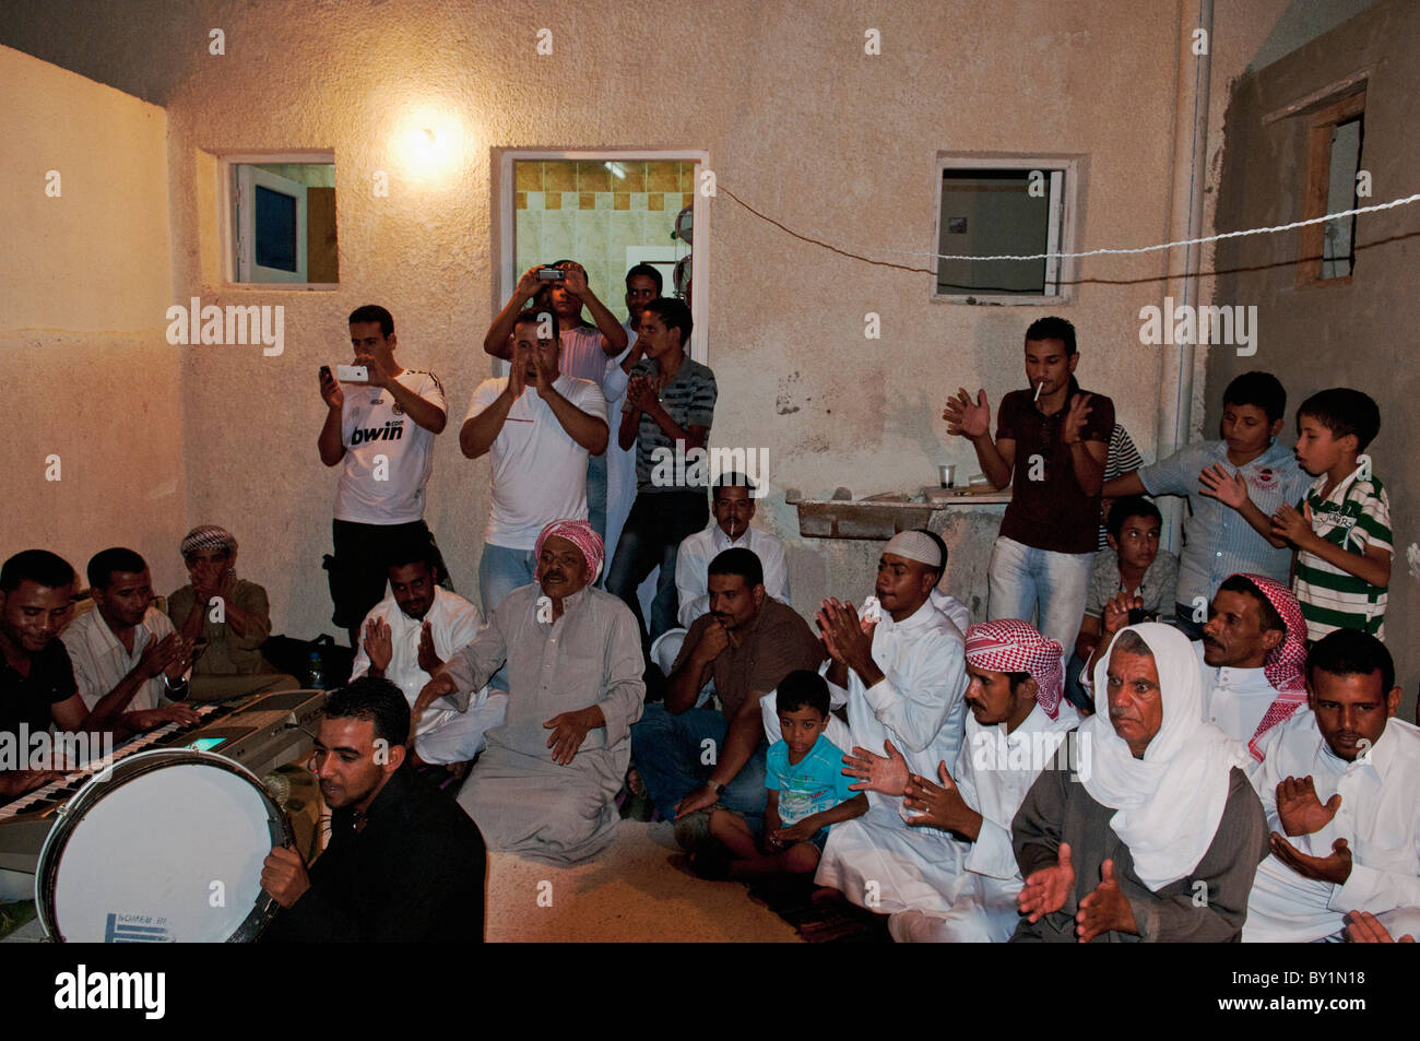
[[[1055,178],[1051,176],[1051,216],[1047,231],[1047,253],[1074,253],[1079,234],[1079,207],[1083,197],[1082,180],[1085,176],[1085,158],[1079,155],[1047,155],[1021,152],[937,152],[936,170],[933,179],[934,220],[932,226],[932,291],[930,300],[939,304],[1020,304],[1025,307],[1051,307],[1075,301],[1076,281],[1079,277],[1078,257],[1058,257],[1051,276],[1051,263],[1045,261],[1047,283],[1054,281],[1056,291],[1039,294],[1017,293],[939,293],[937,291],[937,253],[941,249],[941,182],[947,170],[1044,170],[1047,173],[1061,173],[1065,179],[1064,189],[1056,192]]]

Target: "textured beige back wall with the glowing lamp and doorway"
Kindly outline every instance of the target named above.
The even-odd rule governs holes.
[[[1281,0],[1220,3],[1213,41],[1216,124],[1223,84],[1247,64]],[[878,547],[799,540],[784,491],[855,496],[977,470],[946,437],[958,385],[993,405],[1021,385],[1021,334],[1052,311],[1076,324],[1079,376],[1110,395],[1152,457],[1159,348],[1139,344],[1167,258],[1089,260],[1056,308],[932,303],[932,276],[842,257],[787,236],[736,196],[811,237],[926,267],[934,247],[939,151],[1088,158],[1082,249],[1169,236],[1179,67],[1177,3],[1120,6],[856,3],[636,6],[532,3],[231,3],[136,0],[124,17],[57,4],[9,16],[4,38],[165,105],[169,121],[172,297],[281,304],[285,349],[186,348],[185,523],[243,540],[244,571],[271,592],[277,628],[329,629],[320,557],[329,548],[334,473],[320,466],[315,369],[339,361],[345,315],[378,301],[400,356],[437,372],[462,419],[490,366],[480,351],[498,301],[494,149],[706,149],[711,200],[709,362],[720,385],[714,443],[770,449],[760,518],[791,543],[795,605],[862,595]],[[555,16],[555,17],[554,17]],[[108,18],[108,36],[94,21]],[[70,33],[50,31],[70,26]],[[135,26],[138,28],[135,28]],[[226,54],[209,54],[222,27]],[[537,30],[552,54],[535,53]],[[865,30],[882,53],[863,53]],[[102,26],[101,26],[102,28]],[[104,40],[111,43],[104,43]],[[1186,70],[1183,70],[1186,71]],[[1123,104],[1127,99],[1127,104]],[[402,142],[436,126],[443,172]],[[210,233],[212,153],[334,149],[341,285],[224,288]],[[1214,152],[1214,156],[1217,152]],[[386,197],[372,190],[389,175]],[[206,223],[204,223],[206,222]],[[209,230],[204,230],[207,227]],[[697,241],[697,264],[700,261]],[[866,247],[866,249],[863,249]],[[882,338],[863,338],[865,315]],[[1201,358],[1200,358],[1201,366]],[[1194,398],[1203,399],[1201,381]],[[427,520],[460,588],[471,589],[488,467],[437,442]],[[949,588],[984,595],[995,514],[949,523]]]

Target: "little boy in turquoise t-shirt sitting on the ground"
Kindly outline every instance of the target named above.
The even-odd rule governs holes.
[[[703,878],[753,878],[811,873],[828,839],[828,827],[868,812],[868,794],[851,791],[843,750],[824,736],[828,685],[808,669],[795,669],[778,686],[775,702],[782,740],[765,757],[764,845],[743,817],[710,814],[710,834],[724,849],[697,854],[692,868]]]

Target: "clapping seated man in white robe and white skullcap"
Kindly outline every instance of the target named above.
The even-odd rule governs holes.
[[[848,706],[846,729],[835,720],[829,740],[855,754],[900,750],[912,773],[927,777],[939,764],[957,761],[966,717],[961,631],[930,599],[941,565],[932,538],[902,531],[878,561],[880,621],[861,621],[836,599],[825,601],[818,614],[832,659],[829,689],[836,704]],[[775,699],[765,697],[761,707],[765,733],[778,740],[778,717],[771,719]],[[731,744],[721,761],[733,754]],[[814,881],[882,913],[946,912],[951,900],[944,893],[958,861],[953,838],[909,827],[897,797],[870,791],[868,804],[865,815],[834,828]]]

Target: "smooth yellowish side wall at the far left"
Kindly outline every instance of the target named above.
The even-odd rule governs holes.
[[[9,47],[0,94],[0,558],[43,545],[82,574],[129,545],[170,592],[187,466],[166,115]]]

